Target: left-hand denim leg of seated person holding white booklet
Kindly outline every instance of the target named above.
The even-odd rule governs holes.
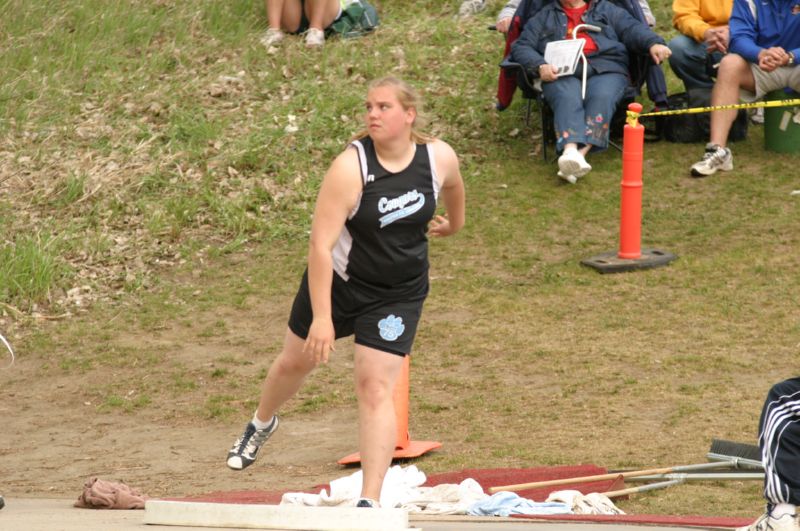
[[[542,93],[553,109],[558,136],[556,149],[563,151],[567,144],[586,144],[581,80],[566,76],[551,83],[542,83]]]

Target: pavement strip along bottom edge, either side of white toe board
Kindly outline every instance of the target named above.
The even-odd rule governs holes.
[[[144,511],[78,509],[74,499],[64,498],[6,498],[0,510],[2,531],[209,531],[236,529],[220,527],[187,527],[147,525]],[[411,526],[423,531],[659,531],[697,529],[663,526],[593,524],[574,522],[532,522],[515,518],[493,517],[432,517],[411,515]],[[376,530],[379,531],[379,530]]]

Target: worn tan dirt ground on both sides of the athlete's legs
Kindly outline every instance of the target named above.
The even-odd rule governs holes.
[[[121,307],[72,322],[40,323],[40,337],[17,343],[16,362],[0,369],[0,494],[77,499],[91,477],[122,481],[151,497],[318,490],[353,473],[355,468],[336,463],[357,450],[349,340],[337,343],[328,366],[313,373],[306,390],[286,405],[281,427],[258,462],[244,471],[225,465],[230,445],[254,409],[259,375],[280,345],[290,300],[285,294],[255,297],[240,308],[193,312],[148,327],[126,320]],[[441,354],[437,358],[432,336],[443,335],[431,330],[444,324],[469,327],[474,318],[465,311],[445,311],[442,304],[434,299],[427,308],[415,354],[419,359],[412,358],[412,439],[443,442],[440,450],[413,462],[428,474],[589,463],[609,469],[686,464],[704,461],[708,441],[724,433],[717,425],[704,428],[707,419],[700,415],[684,416],[680,431],[664,429],[660,412],[681,410],[663,393],[640,411],[622,415],[631,400],[627,394],[606,392],[586,378],[583,387],[570,387],[576,385],[572,372],[559,371],[568,376],[562,382],[536,364],[504,370],[501,350],[490,349],[491,356],[464,364]],[[222,328],[220,323],[223,331],[208,333]],[[150,358],[157,361],[147,365]],[[85,368],[76,368],[84,363]],[[597,363],[593,371],[610,370]],[[225,376],[215,379],[217,370]],[[177,380],[197,385],[184,389]],[[146,407],[129,411],[104,405],[110,394],[134,403],[143,390],[150,397]],[[595,398],[573,400],[566,393]],[[759,393],[750,394],[758,400]],[[203,413],[201,406],[213,397],[225,397],[229,410]],[[317,400],[328,402],[304,409]],[[609,411],[613,418],[599,417]],[[742,425],[749,427],[746,421]],[[758,491],[742,482],[686,485],[634,497],[625,509],[749,516],[758,510]]]

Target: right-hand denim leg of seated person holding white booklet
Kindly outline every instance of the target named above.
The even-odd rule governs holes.
[[[622,74],[595,74],[586,80],[584,106],[584,129],[587,144],[597,149],[608,147],[611,119],[628,86],[628,78]]]

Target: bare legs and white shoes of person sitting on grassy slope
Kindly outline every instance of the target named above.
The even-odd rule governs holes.
[[[286,33],[306,32],[306,46],[325,44],[325,28],[342,16],[340,0],[264,0],[269,29],[261,37],[264,46],[275,46]],[[286,33],[284,33],[286,32]]]

